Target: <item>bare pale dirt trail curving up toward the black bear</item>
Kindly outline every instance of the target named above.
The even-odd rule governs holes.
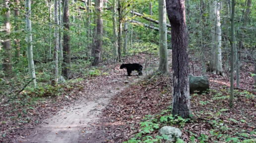
[[[141,78],[143,76],[133,77],[132,80],[136,82]],[[128,78],[124,77],[122,81],[111,81],[124,83],[126,79]],[[70,107],[64,107],[34,129],[27,129],[29,135],[18,137],[14,143],[79,143],[80,137],[91,134],[89,128],[99,119],[101,110],[108,105],[111,98],[127,87],[124,84],[105,85],[100,91],[93,93],[93,101],[83,99]],[[86,91],[83,94],[87,94]]]

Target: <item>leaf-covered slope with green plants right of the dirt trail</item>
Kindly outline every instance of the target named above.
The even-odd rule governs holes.
[[[199,60],[191,61],[190,67],[192,65],[195,69],[201,67]],[[229,107],[228,77],[208,72],[209,93],[191,95],[191,108],[197,122],[173,118],[172,76],[152,74],[113,98],[103,112],[98,135],[94,137],[108,143],[166,143],[158,130],[168,125],[181,129],[183,141],[177,140],[177,143],[256,143],[256,92],[251,76],[254,67],[244,65],[233,108]],[[200,70],[193,73],[202,74]]]

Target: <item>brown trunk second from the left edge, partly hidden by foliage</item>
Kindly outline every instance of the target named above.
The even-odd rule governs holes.
[[[15,31],[18,31],[19,30],[19,24],[18,24],[18,17],[19,17],[19,11],[18,11],[18,9],[19,9],[19,0],[15,0],[15,2],[16,2],[16,8],[15,8],[15,10],[14,10],[14,17],[15,17],[15,28],[14,28],[14,30]],[[14,39],[14,47],[15,47],[15,49],[16,49],[16,58],[18,59],[18,61],[19,61],[19,57],[20,57],[20,46],[19,46],[19,39]]]

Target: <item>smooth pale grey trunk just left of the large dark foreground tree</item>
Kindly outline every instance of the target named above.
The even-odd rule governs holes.
[[[159,0],[158,4],[159,19],[159,56],[160,62],[158,71],[162,73],[169,72],[168,54],[167,54],[167,27],[166,27],[166,2]]]

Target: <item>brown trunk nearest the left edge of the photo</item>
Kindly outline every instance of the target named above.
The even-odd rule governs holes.
[[[10,35],[10,9],[8,7],[8,4],[10,0],[3,0],[4,8],[6,8],[6,11],[4,13],[4,33],[6,34],[3,45],[4,50],[4,59],[3,59],[3,70],[7,73],[11,73],[11,42],[9,39]]]

